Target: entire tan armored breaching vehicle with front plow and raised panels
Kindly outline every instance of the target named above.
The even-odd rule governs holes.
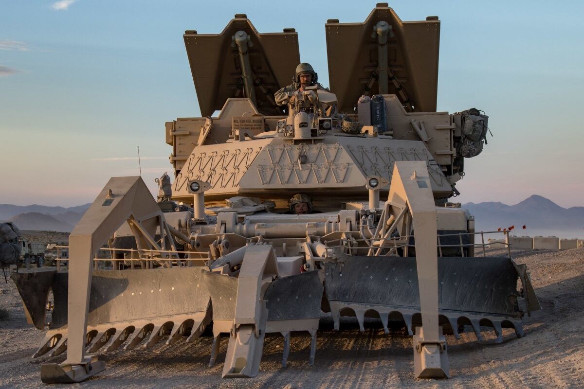
[[[309,332],[312,364],[328,313],[335,330],[343,316],[361,331],[366,317],[385,332],[404,323],[416,377],[449,376],[444,332],[522,336],[539,309],[525,266],[475,257],[474,218],[445,206],[488,117],[436,112],[439,30],[386,3],[363,23],[328,20],[330,92],[293,87],[283,106],[294,29],[258,33],[235,15],[220,34],[186,31],[203,117],[166,123],[172,188],[163,177],[157,202],[140,177],[111,178],[71,233],[68,272],[13,274],[47,330],[34,356],[67,351],[41,379],[81,381],[105,368],[98,351],[196,342],[208,326],[211,365],[229,334],[223,377],[256,376],[270,332],[284,337],[284,366],[290,332]],[[291,212],[290,198],[311,212]],[[114,269],[93,271],[106,243]]]

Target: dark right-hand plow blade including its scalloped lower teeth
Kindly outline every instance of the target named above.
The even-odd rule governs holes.
[[[440,326],[451,328],[456,338],[463,325],[471,325],[479,341],[481,327],[492,327],[498,342],[503,339],[503,327],[513,328],[522,337],[519,278],[509,258],[439,257]],[[529,283],[523,289],[530,288]],[[361,332],[365,317],[378,316],[386,333],[390,321],[403,321],[409,335],[421,322],[415,257],[352,256],[328,262],[325,290],[335,330],[339,330],[340,316],[356,316]]]

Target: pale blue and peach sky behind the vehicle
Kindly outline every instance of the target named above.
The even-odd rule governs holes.
[[[262,33],[295,27],[326,86],[326,19],[363,22],[375,4],[0,0],[0,203],[91,202],[110,176],[138,174],[137,145],[154,190],[172,172],[164,122],[200,115],[185,30],[219,33],[235,13]],[[584,205],[584,2],[390,6],[442,21],[438,110],[490,117],[494,137],[465,161],[455,201]]]

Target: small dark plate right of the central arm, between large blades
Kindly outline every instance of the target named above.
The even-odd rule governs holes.
[[[320,317],[323,290],[318,271],[276,279],[264,297],[267,321]]]

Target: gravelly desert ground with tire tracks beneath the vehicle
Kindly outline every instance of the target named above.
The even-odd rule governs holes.
[[[207,367],[211,338],[170,348],[105,353],[106,370],[72,387],[92,388],[580,388],[584,386],[584,249],[513,251],[527,264],[542,309],[524,318],[525,337],[505,330],[502,344],[492,331],[484,342],[465,332],[449,344],[449,380],[413,377],[412,339],[403,330],[384,335],[376,320],[364,334],[346,318],[340,332],[323,316],[314,366],[308,365],[310,336],[293,335],[288,367],[281,367],[283,340],[268,335],[254,379],[222,380],[227,350],[223,339],[217,365]],[[62,362],[64,355],[31,359],[43,332],[26,323],[15,285],[0,285],[0,388],[36,388],[40,364]],[[162,342],[159,342],[162,344]],[[54,385],[54,388],[71,387]]]

